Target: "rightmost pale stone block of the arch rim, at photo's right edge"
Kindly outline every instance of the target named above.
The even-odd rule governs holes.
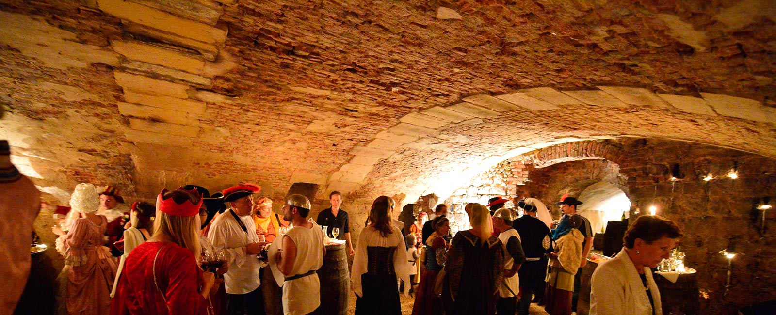
[[[776,109],[763,106],[761,102],[754,99],[713,93],[701,93],[701,95],[719,115],[776,124]]]

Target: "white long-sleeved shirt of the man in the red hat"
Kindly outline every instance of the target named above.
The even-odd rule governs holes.
[[[223,283],[229,294],[245,294],[258,288],[258,272],[260,269],[255,254],[245,252],[245,245],[258,242],[256,225],[251,216],[240,216],[240,220],[248,229],[246,233],[227,210],[213,220],[208,232],[210,243],[216,251],[223,249],[227,257],[229,272],[223,275]]]

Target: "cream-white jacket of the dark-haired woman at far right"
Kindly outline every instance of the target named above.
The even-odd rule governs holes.
[[[663,314],[660,291],[652,278],[650,268],[644,268],[646,285],[655,303],[655,315]],[[615,258],[601,262],[591,278],[591,315],[652,315],[652,305],[641,281],[636,265],[622,248]]]

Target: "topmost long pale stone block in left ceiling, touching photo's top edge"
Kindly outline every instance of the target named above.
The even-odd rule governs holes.
[[[168,12],[145,5],[123,0],[98,0],[97,5],[102,12],[117,18],[151,26],[165,32],[175,33],[205,43],[218,44],[227,40],[226,30],[173,16]]]

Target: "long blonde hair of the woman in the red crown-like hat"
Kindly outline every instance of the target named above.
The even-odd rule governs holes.
[[[184,194],[185,196],[183,196]],[[173,190],[171,192],[167,192],[165,194],[165,198],[188,198],[192,200],[192,202],[199,202],[199,198],[192,196],[189,194],[189,192],[182,190]],[[177,202],[178,200],[175,201]],[[161,212],[159,207],[157,207],[156,219],[154,220],[154,235],[151,237],[155,238],[159,235],[165,235],[166,237],[169,237],[175,244],[178,244],[178,246],[188,248],[189,251],[194,254],[195,258],[199,258],[199,254],[202,252],[202,247],[199,247],[199,225],[196,223],[196,220],[198,219],[199,216],[196,215],[173,216],[171,214]]]

